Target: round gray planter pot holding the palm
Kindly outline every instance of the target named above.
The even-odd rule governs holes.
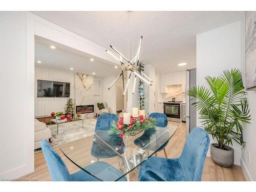
[[[234,150],[230,146],[224,147],[224,150],[218,148],[218,143],[210,144],[210,156],[214,162],[223,167],[230,167],[234,163]]]

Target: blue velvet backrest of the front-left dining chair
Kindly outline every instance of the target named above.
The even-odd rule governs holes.
[[[52,181],[71,181],[69,170],[60,156],[53,150],[47,140],[41,141],[42,153],[51,175]]]

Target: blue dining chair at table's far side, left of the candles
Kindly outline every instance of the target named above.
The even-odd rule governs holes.
[[[97,160],[99,158],[111,158],[117,156],[118,153],[123,154],[123,139],[118,135],[110,135],[107,132],[112,122],[118,120],[119,118],[116,114],[102,114],[98,117],[95,126],[95,140],[91,148],[91,155],[97,158]],[[105,142],[111,147],[106,146],[106,144],[104,144]],[[115,149],[115,151],[113,149]]]

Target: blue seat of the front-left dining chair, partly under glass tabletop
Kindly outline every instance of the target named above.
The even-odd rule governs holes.
[[[98,161],[92,163],[86,167],[84,170],[87,170],[89,173],[98,177],[103,181],[114,181],[122,176],[122,174],[117,170],[115,167],[111,166],[108,163]],[[95,177],[91,176],[90,174],[84,172],[84,170],[80,170],[74,174],[71,174],[71,178],[73,181],[99,181]],[[126,181],[124,177],[122,177],[118,181]]]

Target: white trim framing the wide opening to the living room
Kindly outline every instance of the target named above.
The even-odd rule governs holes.
[[[4,174],[12,177],[20,177],[34,172],[34,37],[35,35],[48,38],[62,45],[74,48],[76,50],[86,52],[94,55],[105,62],[112,65],[119,65],[109,54],[106,53],[104,47],[90,41],[84,37],[81,37],[65,28],[62,28],[56,24],[49,22],[48,20],[41,18],[31,12],[26,12],[27,15],[27,49],[26,49],[26,131],[24,137],[25,143],[25,165],[8,170]]]

